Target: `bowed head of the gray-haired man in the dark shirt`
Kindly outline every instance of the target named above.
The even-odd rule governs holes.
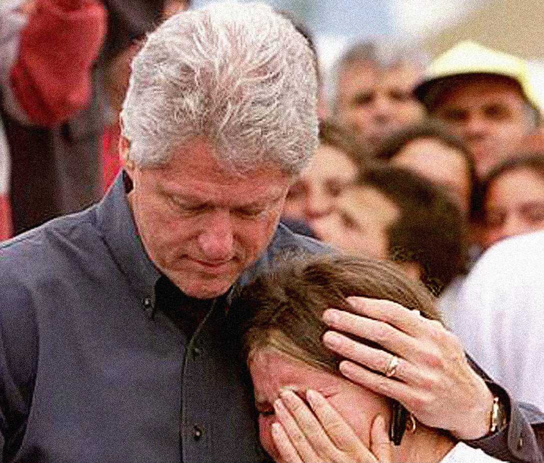
[[[223,295],[273,239],[317,145],[316,66],[270,7],[173,16],[133,62],[120,151],[149,258],[186,295]]]

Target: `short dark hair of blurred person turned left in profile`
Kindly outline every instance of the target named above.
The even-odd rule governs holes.
[[[391,260],[418,264],[421,280],[436,295],[466,272],[466,224],[446,195],[400,168],[370,169],[358,184],[380,191],[400,209],[398,220],[388,230]]]

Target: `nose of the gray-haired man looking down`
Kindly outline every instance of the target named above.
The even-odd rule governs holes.
[[[213,264],[232,259],[234,238],[228,210],[214,210],[203,220],[198,243],[203,259]]]

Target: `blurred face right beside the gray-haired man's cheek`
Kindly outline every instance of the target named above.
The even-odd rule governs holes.
[[[330,145],[320,145],[310,166],[290,189],[282,215],[313,222],[329,215],[336,198],[355,182],[357,167],[351,158]]]

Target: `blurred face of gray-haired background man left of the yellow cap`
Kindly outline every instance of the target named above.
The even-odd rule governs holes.
[[[338,76],[338,124],[375,151],[387,136],[423,117],[422,105],[412,96],[420,77],[419,68],[409,65],[385,70],[366,61],[345,65]]]

